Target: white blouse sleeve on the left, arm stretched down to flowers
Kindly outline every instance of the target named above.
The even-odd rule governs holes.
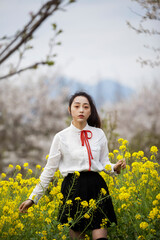
[[[45,193],[50,181],[54,176],[54,173],[59,167],[60,159],[60,139],[59,136],[56,134],[51,144],[47,164],[40,175],[40,182],[36,185],[33,192],[29,196],[29,199],[33,200],[35,204],[38,203],[39,199]]]

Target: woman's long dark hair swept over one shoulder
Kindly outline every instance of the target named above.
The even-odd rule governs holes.
[[[100,117],[98,115],[95,103],[94,103],[92,97],[88,93],[81,91],[81,92],[76,92],[75,94],[73,94],[69,100],[69,108],[71,109],[73,100],[78,96],[86,97],[91,106],[91,115],[89,116],[89,118],[87,120],[88,124],[92,127],[100,128],[101,127]]]

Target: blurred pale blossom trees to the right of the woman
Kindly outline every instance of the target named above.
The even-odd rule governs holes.
[[[108,117],[112,120],[110,125],[114,126],[112,133],[109,133],[112,136],[111,146],[118,137],[122,137],[129,140],[131,152],[143,150],[149,155],[151,146],[160,148],[159,92],[160,83],[155,81],[152,86],[143,87],[128,101],[104,106],[103,109],[107,110],[103,110],[103,118]]]

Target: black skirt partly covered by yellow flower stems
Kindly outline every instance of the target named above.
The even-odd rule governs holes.
[[[69,173],[63,180],[63,204],[58,220],[70,223],[74,231],[86,231],[117,224],[108,187],[98,172]],[[72,219],[72,220],[71,220]]]

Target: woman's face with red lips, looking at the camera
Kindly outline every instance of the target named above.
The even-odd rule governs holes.
[[[89,101],[84,96],[77,96],[74,98],[71,108],[69,108],[73,122],[84,123],[91,115],[91,106]]]

